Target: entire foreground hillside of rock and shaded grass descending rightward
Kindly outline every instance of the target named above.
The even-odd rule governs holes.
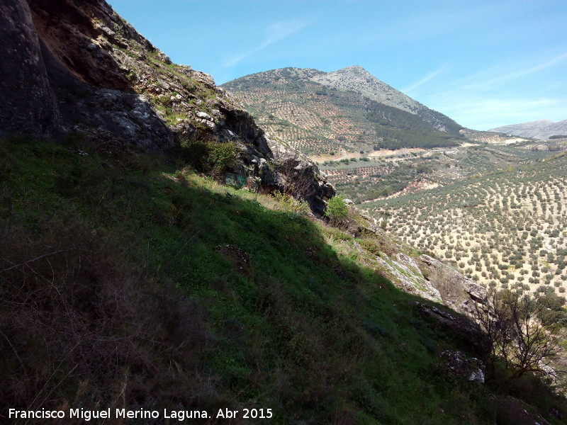
[[[0,12],[2,423],[564,423],[441,304],[482,288],[331,198],[206,74],[101,0]]]

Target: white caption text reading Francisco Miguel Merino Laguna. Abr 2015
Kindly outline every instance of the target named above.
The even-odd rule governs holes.
[[[240,415],[239,415],[240,414]],[[185,419],[209,419],[210,416],[206,410],[146,410],[143,408],[137,410],[127,409],[114,409],[110,407],[104,410],[86,410],[68,409],[68,410],[17,410],[8,409],[9,419],[83,419],[90,421],[91,419],[177,419],[184,421]],[[241,417],[242,419],[270,419],[272,416],[271,409],[242,409],[232,410],[228,408],[218,409],[216,414],[217,418],[230,418],[235,419]]]

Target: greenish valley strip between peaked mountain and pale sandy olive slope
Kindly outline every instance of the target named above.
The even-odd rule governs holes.
[[[448,186],[497,170],[521,168],[550,157],[556,153],[555,148],[529,140],[513,145],[466,143],[450,148],[399,149],[382,157],[345,156],[322,162],[320,167],[339,193],[354,203],[365,203]]]

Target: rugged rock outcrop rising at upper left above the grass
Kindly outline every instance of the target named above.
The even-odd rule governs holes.
[[[176,65],[103,0],[0,5],[0,135],[60,137],[161,151],[184,139],[237,146],[228,181],[303,197],[335,194],[318,167],[270,140],[212,77]]]

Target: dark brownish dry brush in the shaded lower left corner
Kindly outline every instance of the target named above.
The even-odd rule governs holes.
[[[72,222],[4,229],[3,407],[148,406],[170,392],[185,406],[213,399],[210,377],[196,373],[208,344],[203,312],[93,233]]]

